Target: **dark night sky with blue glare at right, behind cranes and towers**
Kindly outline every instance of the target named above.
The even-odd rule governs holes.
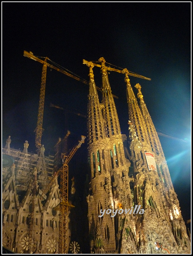
[[[29,151],[35,151],[33,131],[37,125],[42,64],[24,57],[23,50],[49,57],[86,80],[89,68],[82,64],[83,59],[98,61],[104,57],[110,64],[151,78],[147,81],[130,76],[135,95],[134,86],[139,83],[157,131],[186,141],[160,136],[182,215],[185,221],[189,219],[190,11],[191,2],[3,2],[2,145],[11,135],[11,147],[23,149],[28,140]],[[93,70],[100,87],[100,69]],[[112,93],[118,96],[115,105],[121,132],[128,135],[124,75],[111,72],[109,82]],[[48,68],[42,136],[45,154],[52,151],[67,129],[71,131],[69,146],[87,133],[84,117],[65,115],[60,109],[50,108],[50,102],[86,114],[87,95],[86,84]],[[86,143],[81,147],[85,149]],[[81,149],[77,157],[80,152]]]

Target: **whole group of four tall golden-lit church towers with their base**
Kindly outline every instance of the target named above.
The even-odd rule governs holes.
[[[99,61],[101,103],[92,71],[94,64],[84,61],[89,67],[90,78],[87,123],[90,187],[86,197],[90,252],[190,252],[179,201],[156,129],[143,101],[141,86],[135,86],[140,99],[138,105],[128,71],[123,70],[129,110],[129,143],[124,151],[107,67],[104,58]],[[144,214],[121,211],[137,205],[144,209]],[[116,210],[120,214],[112,217]],[[99,217],[102,212],[104,215]]]

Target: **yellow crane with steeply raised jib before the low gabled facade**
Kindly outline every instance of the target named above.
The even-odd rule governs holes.
[[[68,207],[73,207],[72,204],[68,201],[68,163],[72,159],[75,152],[78,148],[81,147],[81,144],[84,143],[86,136],[81,136],[81,140],[78,141],[78,145],[75,145],[72,150],[69,152],[68,155],[63,154],[61,155],[63,165],[58,171],[54,174],[54,177],[49,183],[49,186],[41,192],[39,190],[39,195],[46,199],[46,194],[49,192],[52,184],[55,183],[58,176],[60,175],[60,215],[59,215],[59,246],[58,246],[58,253],[68,253]],[[58,208],[57,208],[58,209]]]

